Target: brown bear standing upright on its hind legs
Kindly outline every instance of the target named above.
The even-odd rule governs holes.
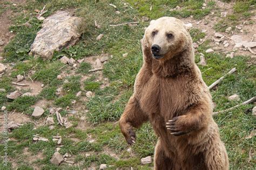
[[[211,94],[184,23],[172,17],[152,20],[142,48],[143,66],[119,122],[127,143],[135,143],[133,127],[150,121],[159,138],[154,169],[228,169]]]

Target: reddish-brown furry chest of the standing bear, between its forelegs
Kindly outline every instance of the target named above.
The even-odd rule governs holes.
[[[183,114],[189,97],[185,82],[183,77],[163,79],[153,75],[142,88],[137,89],[142,110],[150,117],[165,120]]]

